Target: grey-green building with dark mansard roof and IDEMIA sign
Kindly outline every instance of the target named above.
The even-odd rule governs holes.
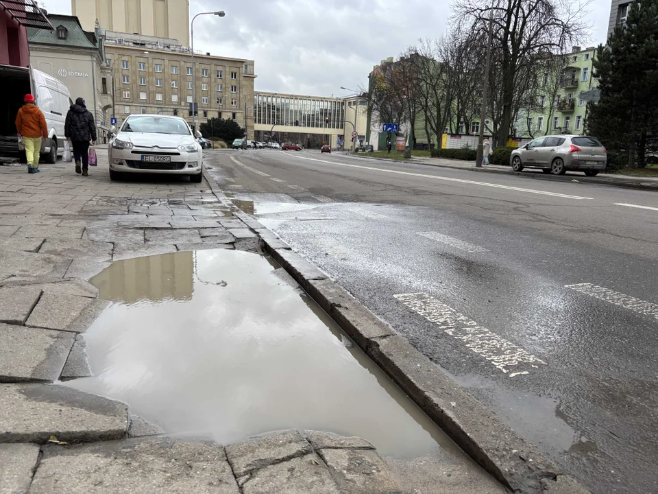
[[[66,84],[73,100],[85,99],[103,142],[110,128],[107,111],[112,108],[112,95],[103,86],[103,80],[110,76],[103,54],[103,36],[98,29],[84,31],[75,16],[49,14],[48,19],[55,30],[27,28],[29,62]]]

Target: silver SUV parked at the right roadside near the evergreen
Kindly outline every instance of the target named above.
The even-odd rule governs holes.
[[[594,137],[555,135],[539,137],[512,151],[509,164],[515,172],[526,167],[563,175],[567,170],[596,176],[605,169],[607,154]]]

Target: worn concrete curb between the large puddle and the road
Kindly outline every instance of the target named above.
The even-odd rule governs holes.
[[[219,186],[212,192],[230,202]],[[399,336],[343,287],[306,261],[254,217],[230,203],[234,215],[260,237],[271,255],[317,304],[402,388],[432,421],[498,482],[517,493],[587,494],[577,480],[517,435],[490,410],[454,384],[428,357]]]

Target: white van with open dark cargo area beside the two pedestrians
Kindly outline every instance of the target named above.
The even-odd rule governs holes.
[[[64,152],[64,122],[73,104],[69,89],[47,73],[12,65],[0,65],[0,161],[21,156],[15,122],[28,93],[34,95],[34,103],[46,117],[49,139],[42,144],[43,158],[55,163]]]

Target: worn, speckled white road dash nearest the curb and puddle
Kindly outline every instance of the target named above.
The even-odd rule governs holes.
[[[428,294],[414,293],[393,296],[428,321],[435,322],[452,338],[464,342],[468,349],[485,357],[500,371],[505,374],[509,373],[509,377],[529,374],[530,371],[538,368],[539,364],[546,365],[546,362],[535,355],[500,338],[496,333],[479,326],[474,320],[470,320]]]

